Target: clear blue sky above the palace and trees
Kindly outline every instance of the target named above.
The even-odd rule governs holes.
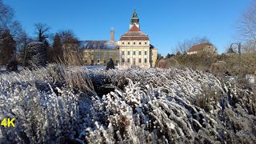
[[[206,37],[222,54],[236,42],[236,23],[250,0],[3,0],[15,11],[26,32],[34,35],[34,23],[58,30],[73,30],[80,40],[115,40],[129,30],[134,8],[141,30],[158,53],[176,53],[184,39]]]

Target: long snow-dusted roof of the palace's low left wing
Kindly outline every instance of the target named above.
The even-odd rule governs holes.
[[[78,41],[79,49],[118,49],[118,43],[113,41]]]

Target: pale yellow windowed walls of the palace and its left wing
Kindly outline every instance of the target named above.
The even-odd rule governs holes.
[[[157,49],[150,49],[150,41],[125,41],[123,43],[119,41],[118,43],[120,47],[117,50],[82,50],[83,61],[86,65],[105,66],[112,58],[114,65],[118,65],[119,68],[128,68],[133,65],[144,68],[154,67]]]

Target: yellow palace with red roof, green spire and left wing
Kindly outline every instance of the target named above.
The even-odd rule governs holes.
[[[114,30],[110,30],[109,41],[79,41],[79,49],[86,65],[106,65],[113,59],[118,68],[139,66],[154,67],[157,49],[150,44],[150,38],[140,30],[138,14],[130,19],[130,30],[114,41]]]

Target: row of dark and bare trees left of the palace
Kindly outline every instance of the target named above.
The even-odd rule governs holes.
[[[78,40],[71,30],[59,30],[53,34],[50,26],[41,22],[35,23],[34,28],[35,36],[26,34],[14,18],[14,10],[0,0],[0,66],[6,66],[10,61],[22,65],[30,42],[42,42],[47,63],[66,62],[70,51],[73,55],[78,52]]]

